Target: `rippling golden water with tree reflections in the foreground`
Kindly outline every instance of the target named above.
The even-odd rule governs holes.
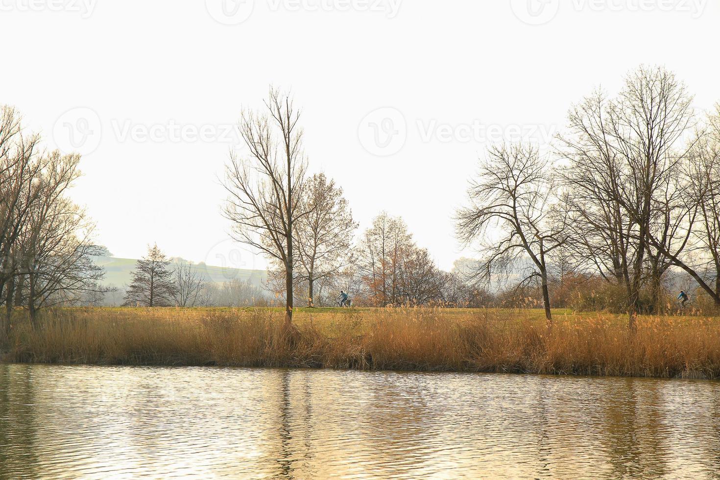
[[[0,365],[0,478],[720,478],[720,384]]]

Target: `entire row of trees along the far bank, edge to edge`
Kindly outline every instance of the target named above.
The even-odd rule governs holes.
[[[673,279],[720,307],[720,107],[706,116],[665,68],[641,67],[618,94],[572,105],[548,151],[493,145],[456,212],[456,236],[477,248],[441,271],[400,217],[380,212],[356,235],[343,189],[310,175],[300,110],[271,89],[240,115],[247,154],[231,153],[223,214],[235,240],[270,259],[268,288],[295,305],[451,307],[574,303],[629,314],[667,309]],[[92,303],[109,289],[93,261],[94,224],[68,197],[79,155],[47,151],[9,107],[0,109],[1,331],[16,307]],[[154,246],[138,261],[124,304],[198,306],[262,296],[242,281],[214,284]],[[687,287],[686,287],[687,288]],[[254,290],[253,290],[254,289]],[[491,291],[500,291],[491,294]],[[609,293],[608,293],[609,292]],[[283,298],[284,297],[284,298]],[[265,299],[261,299],[264,302]],[[235,302],[237,303],[237,302]]]

